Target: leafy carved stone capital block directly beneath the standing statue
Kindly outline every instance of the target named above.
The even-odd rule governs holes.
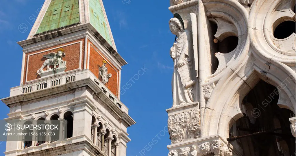
[[[196,109],[170,115],[168,130],[172,144],[198,138],[200,133],[200,110]]]

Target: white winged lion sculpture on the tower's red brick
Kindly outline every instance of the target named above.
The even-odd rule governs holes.
[[[64,49],[60,48],[57,50],[57,53],[52,52],[49,53],[47,55],[43,55],[43,57],[48,58],[44,61],[43,65],[41,66],[40,69],[37,70],[37,74],[42,73],[43,72],[43,68],[45,66],[47,70],[50,70],[51,68],[49,67],[50,65],[53,65],[54,68],[53,70],[57,69],[57,66],[59,66],[59,64],[61,64],[62,62],[64,62],[64,60],[62,60],[62,57],[65,56],[66,54],[64,53]]]

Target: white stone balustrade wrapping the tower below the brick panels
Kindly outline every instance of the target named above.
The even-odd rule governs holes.
[[[64,74],[52,78],[42,79],[25,85],[13,87],[10,89],[10,97],[29,94],[34,91],[41,91],[43,89],[49,89],[59,85],[63,85],[70,82],[75,82],[89,78],[93,81],[100,91],[105,95],[105,98],[109,99],[114,105],[119,107],[122,111],[128,112],[128,108],[115,96],[96,76],[89,70],[79,70],[77,72]]]

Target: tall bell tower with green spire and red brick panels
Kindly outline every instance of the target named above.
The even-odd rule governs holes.
[[[7,141],[4,154],[126,156],[127,128],[136,122],[120,101],[127,63],[117,52],[103,1],[45,0],[28,38],[18,44],[21,81],[1,99],[10,108],[5,120],[59,120],[61,128],[47,141]]]

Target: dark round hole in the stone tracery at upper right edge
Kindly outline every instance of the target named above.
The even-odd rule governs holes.
[[[291,20],[281,22],[274,29],[274,37],[278,39],[284,39],[295,33],[296,23]]]

